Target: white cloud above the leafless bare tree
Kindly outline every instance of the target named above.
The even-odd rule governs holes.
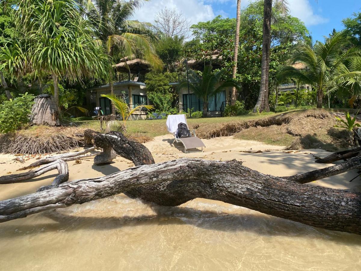
[[[213,8],[210,4],[199,0],[151,0],[145,3],[134,16],[136,20],[142,22],[154,22],[155,14],[163,8],[175,8],[178,12],[183,12],[184,16],[197,23],[209,21],[215,17]]]

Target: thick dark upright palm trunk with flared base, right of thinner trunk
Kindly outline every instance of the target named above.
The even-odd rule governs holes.
[[[270,111],[268,102],[268,78],[270,67],[270,48],[271,48],[271,17],[272,0],[265,0],[263,12],[263,42],[262,42],[262,70],[260,94],[253,112]]]

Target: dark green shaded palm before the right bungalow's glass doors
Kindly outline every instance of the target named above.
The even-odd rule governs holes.
[[[213,97],[227,87],[239,89],[239,85],[232,79],[221,81],[222,76],[226,73],[225,69],[218,72],[212,72],[212,65],[204,67],[202,76],[199,76],[194,70],[189,70],[189,88],[199,99],[203,99],[203,117],[207,116],[208,98]],[[188,87],[187,78],[183,78],[179,83],[178,89]]]

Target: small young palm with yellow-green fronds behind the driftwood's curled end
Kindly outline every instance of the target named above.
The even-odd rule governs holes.
[[[101,96],[105,97],[105,98],[108,98],[110,100],[110,102],[112,103],[112,106],[116,109],[116,112],[119,113],[119,115],[121,115],[122,120],[123,120],[122,130],[124,132],[126,131],[127,120],[132,115],[132,113],[134,113],[135,111],[140,110],[142,108],[146,108],[148,110],[154,109],[153,106],[148,106],[146,104],[142,104],[142,105],[136,106],[136,107],[134,107],[133,109],[130,110],[128,104],[120,96],[117,96],[117,95],[112,94],[112,93],[101,94]],[[119,124],[119,123],[121,123],[119,120],[111,120],[111,121],[109,121],[108,124],[107,124],[108,130],[109,130],[110,126],[112,126],[114,124]]]

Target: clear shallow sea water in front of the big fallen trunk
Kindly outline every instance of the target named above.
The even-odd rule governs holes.
[[[361,236],[123,194],[0,224],[1,270],[361,270]]]

